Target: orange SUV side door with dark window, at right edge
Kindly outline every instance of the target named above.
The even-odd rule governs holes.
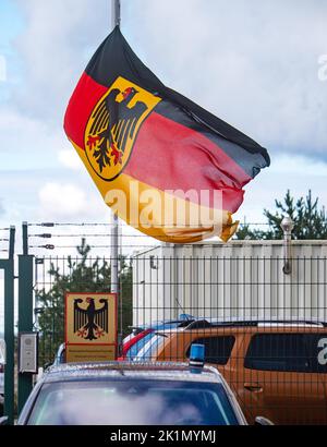
[[[323,424],[325,389],[312,369],[304,334],[264,333],[249,339],[239,392],[245,415],[276,424]]]

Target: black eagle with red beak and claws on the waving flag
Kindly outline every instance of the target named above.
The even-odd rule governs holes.
[[[94,121],[86,144],[93,150],[100,173],[108,166],[122,165],[126,142],[135,137],[137,122],[147,110],[143,101],[133,101],[137,94],[134,87],[123,92],[113,88],[92,116]],[[121,101],[118,100],[119,95],[122,96]]]

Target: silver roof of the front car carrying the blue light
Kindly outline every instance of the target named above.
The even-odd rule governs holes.
[[[182,362],[89,362],[64,363],[50,366],[43,376],[45,383],[97,378],[170,379],[186,382],[222,383],[220,373],[211,366],[204,366],[201,374],[190,371]]]

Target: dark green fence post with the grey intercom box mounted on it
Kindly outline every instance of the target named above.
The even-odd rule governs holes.
[[[19,255],[19,333],[33,331],[33,266],[28,255],[27,222],[23,222],[23,254]],[[19,414],[33,388],[33,375],[19,373]]]

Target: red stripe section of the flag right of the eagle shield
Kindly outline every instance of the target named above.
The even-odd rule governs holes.
[[[156,112],[142,124],[124,172],[161,191],[220,190],[222,207],[231,213],[252,180],[206,136]],[[213,198],[202,204],[213,207]]]

